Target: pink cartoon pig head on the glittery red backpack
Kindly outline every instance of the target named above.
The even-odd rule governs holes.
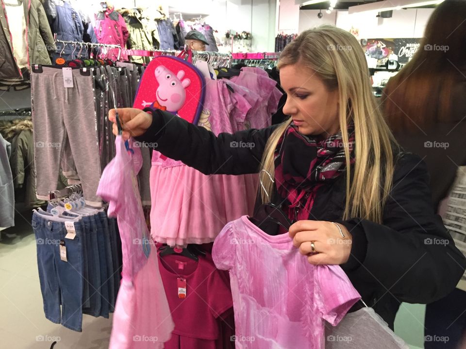
[[[157,101],[166,107],[167,111],[179,111],[183,107],[186,100],[184,89],[191,83],[191,80],[183,80],[183,77],[184,70],[180,70],[175,75],[163,65],[155,69],[155,79],[159,83]]]

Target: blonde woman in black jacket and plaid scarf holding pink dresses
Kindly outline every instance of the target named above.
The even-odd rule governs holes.
[[[401,301],[443,297],[466,268],[434,214],[426,165],[399,149],[349,32],[303,32],[278,67],[290,115],[281,125],[216,137],[163,111],[120,109],[123,138],[157,142],[162,154],[204,174],[261,173],[261,201],[270,197],[296,221],[289,234],[303,258],[340,265],[393,329]],[[115,122],[114,110],[109,117]]]

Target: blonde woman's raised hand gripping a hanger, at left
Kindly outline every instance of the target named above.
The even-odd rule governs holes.
[[[116,127],[116,111],[118,120],[123,128],[122,137],[126,141],[130,137],[141,136],[152,125],[152,115],[136,108],[111,109],[108,112],[108,119],[113,122],[113,134],[118,134]]]

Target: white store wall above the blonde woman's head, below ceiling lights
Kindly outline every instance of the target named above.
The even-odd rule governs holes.
[[[406,9],[393,11],[391,18],[376,17],[373,12],[349,14],[346,10],[332,11],[329,15],[319,10],[300,10],[299,31],[322,24],[333,24],[349,31],[351,27],[359,30],[360,38],[411,38],[422,37],[425,26],[433,9]]]

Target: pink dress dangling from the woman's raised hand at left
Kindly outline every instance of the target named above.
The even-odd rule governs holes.
[[[130,155],[121,136],[116,157],[105,167],[97,194],[109,203],[121,237],[123,269],[116,298],[110,349],[164,348],[174,329],[157,251],[144,219],[136,174],[142,166],[139,148]],[[130,140],[133,144],[133,140]]]

